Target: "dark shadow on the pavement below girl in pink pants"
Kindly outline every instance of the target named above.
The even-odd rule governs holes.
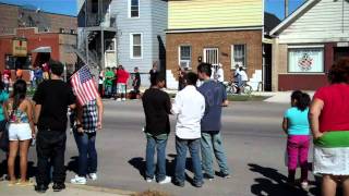
[[[254,179],[254,184],[251,186],[251,193],[253,195],[263,196],[308,196],[320,195],[318,188],[312,186],[309,192],[302,191],[299,187],[291,187],[287,185],[287,176],[279,173],[276,169],[261,167],[258,164],[249,163],[250,170],[255,173],[260,173],[263,176]],[[310,185],[314,185],[315,182],[310,182]]]

